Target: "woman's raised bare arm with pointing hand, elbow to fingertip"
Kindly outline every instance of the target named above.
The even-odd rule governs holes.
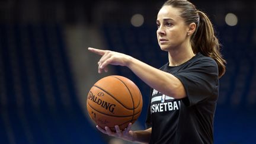
[[[99,50],[89,47],[91,52],[102,55],[98,62],[98,72],[107,72],[107,65],[127,66],[135,73],[142,81],[150,87],[155,88],[165,95],[174,98],[185,97],[185,89],[181,81],[170,73],[160,71],[146,63],[133,58],[132,56],[124,55],[123,53],[112,52],[110,50]]]

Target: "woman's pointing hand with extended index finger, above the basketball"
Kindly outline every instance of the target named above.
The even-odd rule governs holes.
[[[103,70],[108,71],[107,65],[120,65],[127,66],[130,56],[123,53],[113,52],[110,50],[100,50],[89,47],[88,50],[92,53],[101,55],[101,59],[98,62],[98,73],[101,73]]]

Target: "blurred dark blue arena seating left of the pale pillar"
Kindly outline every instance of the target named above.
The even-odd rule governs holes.
[[[79,107],[62,32],[0,25],[0,143],[104,143]]]

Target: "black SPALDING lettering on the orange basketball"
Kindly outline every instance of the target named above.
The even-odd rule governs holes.
[[[94,103],[101,105],[101,107],[105,108],[106,110],[110,111],[111,113],[114,113],[114,108],[116,107],[116,104],[108,103],[107,101],[103,101],[100,98],[96,97],[91,91],[89,91],[88,100],[93,101]]]

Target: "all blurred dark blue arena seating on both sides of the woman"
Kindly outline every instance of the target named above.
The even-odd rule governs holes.
[[[159,49],[155,25],[104,24],[108,49],[159,68],[167,53]],[[226,74],[220,79],[215,143],[254,143],[256,43],[254,25],[216,26]],[[63,28],[59,24],[0,24],[1,143],[104,143],[76,99]],[[129,69],[116,66],[143,94],[143,124],[149,87]]]

